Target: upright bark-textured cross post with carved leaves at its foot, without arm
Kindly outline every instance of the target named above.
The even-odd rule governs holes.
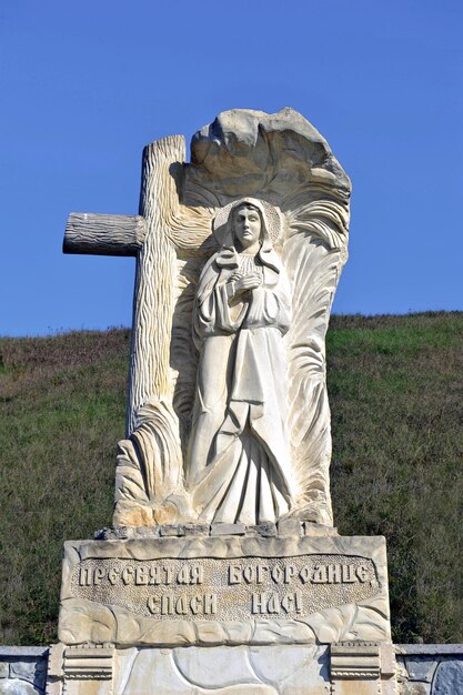
[[[184,139],[157,140],[143,151],[140,215],[145,238],[137,259],[127,440],[119,443],[115,525],[152,525],[188,514],[179,421],[172,409],[170,344],[177,253],[169,218],[178,205],[172,168]],[[169,501],[167,500],[169,497]]]

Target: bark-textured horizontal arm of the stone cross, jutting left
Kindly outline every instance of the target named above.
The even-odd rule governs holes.
[[[137,255],[145,231],[141,215],[71,212],[62,250],[64,253]]]

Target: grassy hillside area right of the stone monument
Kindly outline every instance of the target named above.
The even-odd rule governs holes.
[[[463,313],[335,316],[334,514],[387,540],[395,642],[463,638]]]

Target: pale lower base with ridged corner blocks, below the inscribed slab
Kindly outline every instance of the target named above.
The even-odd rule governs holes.
[[[395,695],[392,645],[54,647],[49,695]]]

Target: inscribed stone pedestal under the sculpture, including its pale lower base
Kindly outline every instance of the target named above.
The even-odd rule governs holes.
[[[334,534],[183,525],[67,543],[50,695],[394,693],[384,540]]]

